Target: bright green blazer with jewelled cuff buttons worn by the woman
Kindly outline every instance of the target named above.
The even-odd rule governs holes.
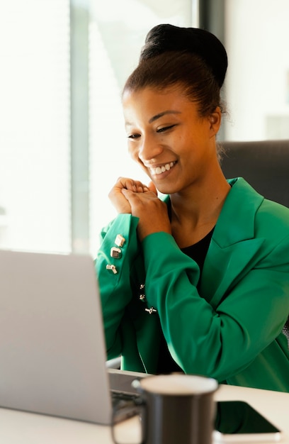
[[[229,182],[201,277],[171,235],[154,233],[140,244],[138,219],[130,214],[103,230],[96,272],[108,359],[121,355],[124,370],[155,373],[162,326],[184,372],[289,392],[282,333],[289,313],[289,209],[242,178]],[[118,234],[123,245],[115,244]]]

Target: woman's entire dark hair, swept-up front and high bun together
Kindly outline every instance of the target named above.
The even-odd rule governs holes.
[[[154,26],[145,39],[140,62],[123,91],[176,87],[198,103],[200,116],[220,106],[227,71],[227,52],[212,33],[169,24]]]

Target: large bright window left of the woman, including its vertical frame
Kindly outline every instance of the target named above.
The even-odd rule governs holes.
[[[127,155],[123,83],[147,30],[191,26],[194,3],[1,2],[0,248],[95,255],[115,180],[147,180]]]

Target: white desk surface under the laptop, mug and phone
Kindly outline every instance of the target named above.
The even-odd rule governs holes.
[[[217,401],[247,401],[283,431],[282,444],[289,444],[289,393],[221,385]],[[136,443],[138,421],[132,418],[118,425],[126,444]],[[109,427],[54,418],[22,411],[0,409],[1,444],[112,444]],[[261,443],[259,443],[261,444]],[[267,443],[268,444],[268,443]]]

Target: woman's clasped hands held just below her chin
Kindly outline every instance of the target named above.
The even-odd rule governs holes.
[[[140,240],[159,231],[171,234],[167,206],[157,196],[152,182],[147,186],[128,177],[119,177],[108,196],[118,213],[130,213],[139,218],[137,234]]]

